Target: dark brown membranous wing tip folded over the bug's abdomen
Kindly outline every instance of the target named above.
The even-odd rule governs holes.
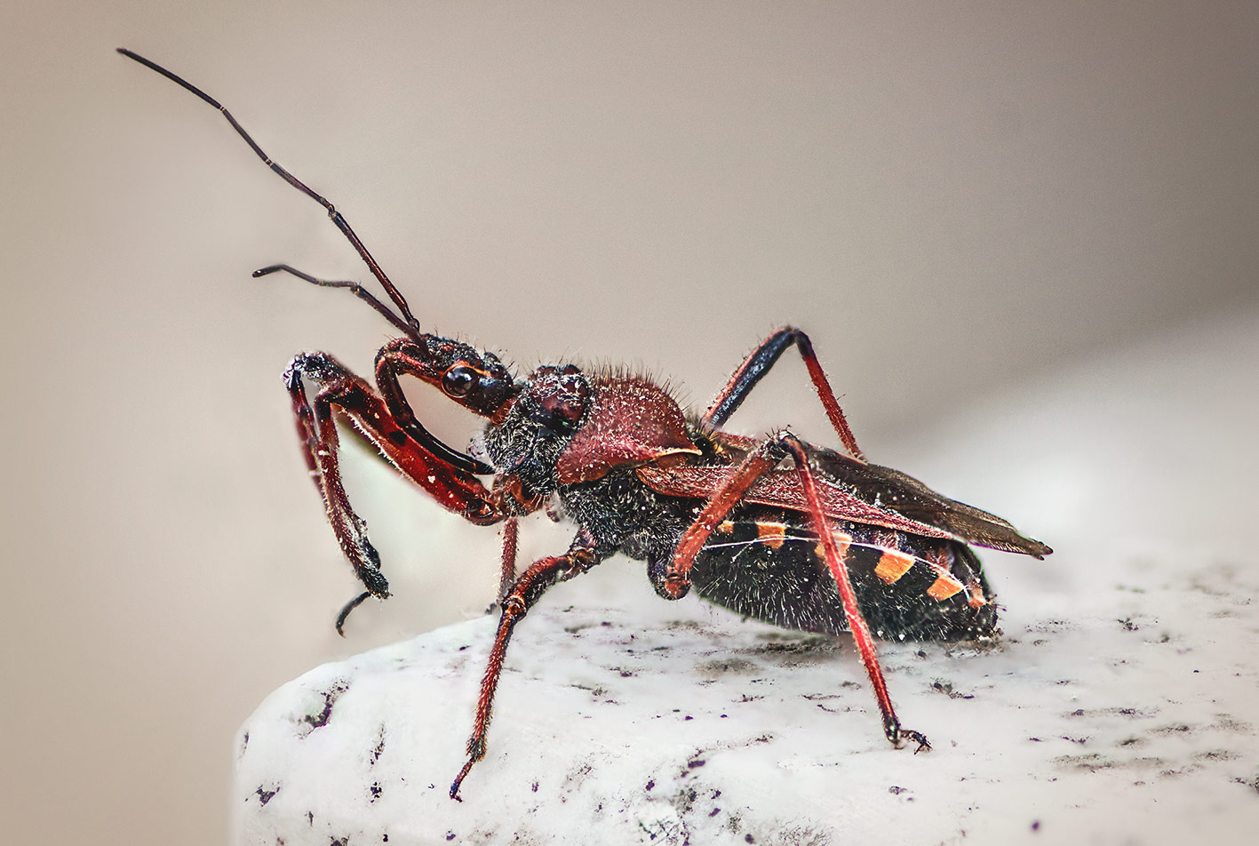
[[[899,470],[861,463],[830,449],[817,449],[813,461],[828,476],[852,486],[861,499],[910,520],[946,529],[968,543],[1034,558],[1054,551],[1039,540],[1019,534],[997,515],[942,496]]]

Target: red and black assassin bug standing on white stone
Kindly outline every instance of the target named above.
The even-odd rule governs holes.
[[[460,784],[485,757],[495,687],[516,623],[553,584],[614,553],[646,561],[665,599],[699,595],[740,614],[811,632],[851,632],[894,745],[927,738],[901,726],[875,655],[885,638],[952,641],[996,633],[993,594],[969,544],[1042,558],[1051,550],[1005,520],[866,462],[805,332],[763,341],[703,414],[686,414],[653,381],[574,364],[512,375],[499,358],[424,332],[407,300],[331,203],[272,161],[214,98],[165,68],[120,48],[219,110],[271,170],[320,203],[354,245],[390,305],[356,282],[346,288],[400,336],[376,355],[373,388],[326,352],[303,352],[285,371],[298,437],[329,521],[366,588],[336,619],[389,585],[341,485],[336,418],[349,419],[407,478],[478,526],[504,524],[501,618],[481,682]],[[798,351],[845,452],[791,432],[757,441],[721,426],[789,347]],[[486,418],[470,453],[432,436],[403,395],[414,376]],[[315,386],[313,398],[307,385]],[[486,483],[480,478],[491,476]],[[517,519],[546,509],[577,525],[568,551],[516,569]],[[871,629],[874,633],[871,633]]]

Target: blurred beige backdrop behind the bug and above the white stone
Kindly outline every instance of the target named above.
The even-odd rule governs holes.
[[[220,842],[233,733],[268,691],[495,584],[494,531],[366,465],[398,595],[332,634],[356,587],[279,371],[310,347],[368,371],[389,327],[249,278],[368,274],[115,47],[330,196],[428,327],[522,369],[630,361],[703,405],[794,322],[895,465],[967,398],[1259,301],[1256,43],[1246,0],[10,4],[6,838]],[[740,428],[826,437],[798,364],[763,392]]]

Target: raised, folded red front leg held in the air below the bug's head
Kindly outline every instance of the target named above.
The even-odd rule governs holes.
[[[306,394],[303,378],[319,385],[313,402]],[[293,403],[302,454],[324,499],[327,520],[341,551],[366,588],[341,609],[336,621],[339,633],[345,618],[364,599],[388,597],[389,583],[380,573],[380,556],[368,540],[366,521],[355,514],[341,482],[340,439],[334,408],[341,409],[394,467],[432,494],[447,510],[477,525],[488,525],[506,516],[476,476],[453,467],[410,438],[371,386],[331,355],[298,355],[285,370],[285,383]]]

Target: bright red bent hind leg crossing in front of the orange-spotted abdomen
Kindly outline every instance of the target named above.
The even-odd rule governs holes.
[[[899,744],[901,739],[908,738],[918,742],[919,749],[929,749],[930,744],[927,743],[927,738],[912,729],[901,729],[900,721],[896,719],[896,713],[891,706],[891,696],[888,694],[888,682],[884,681],[883,668],[879,666],[879,657],[874,648],[870,627],[866,624],[865,617],[861,614],[861,608],[857,606],[856,592],[852,589],[852,582],[849,579],[849,572],[844,564],[845,555],[835,543],[831,526],[826,521],[826,510],[822,505],[821,495],[817,492],[817,485],[813,481],[813,472],[808,465],[808,454],[796,436],[783,433],[762,443],[744,458],[743,463],[713,494],[700,516],[695,519],[695,522],[691,524],[677,544],[672,565],[665,574],[665,594],[672,598],[680,598],[686,594],[690,589],[690,579],[687,579],[686,574],[695,563],[695,556],[700,549],[708,543],[709,535],[725,519],[726,514],[738,505],[740,497],[752,487],[757,478],[777,467],[788,453],[794,460],[799,472],[801,486],[805,490],[810,516],[813,522],[813,531],[822,543],[826,565],[835,579],[840,599],[844,603],[844,614],[849,621],[849,629],[852,632],[852,640],[861,653],[861,661],[865,663],[866,675],[870,677],[870,685],[874,687],[875,699],[879,700],[879,710],[883,713],[884,734],[894,744]]]

